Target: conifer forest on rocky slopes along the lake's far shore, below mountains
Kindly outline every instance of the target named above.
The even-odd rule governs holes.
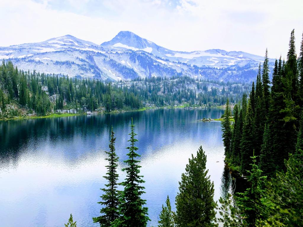
[[[135,110],[145,106],[225,104],[227,97],[237,102],[246,85],[201,81],[190,77],[151,77],[134,81],[104,82],[95,79],[46,75],[35,70],[18,70],[10,61],[0,65],[0,108],[2,117],[26,113],[39,116],[62,109],[105,107],[113,110]]]

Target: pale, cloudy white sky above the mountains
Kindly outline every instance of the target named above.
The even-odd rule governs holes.
[[[223,49],[286,58],[299,52],[302,0],[0,0],[0,46],[63,35],[101,44],[132,31],[176,51]]]

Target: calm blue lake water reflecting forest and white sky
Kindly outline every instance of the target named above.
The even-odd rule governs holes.
[[[181,173],[200,145],[218,200],[224,172],[221,125],[196,120],[222,114],[218,109],[160,109],[0,122],[0,226],[64,226],[70,213],[79,227],[98,226],[92,217],[100,211],[110,128],[117,137],[121,182],[131,117],[146,181],[148,226],[157,226],[167,195],[175,208]]]

